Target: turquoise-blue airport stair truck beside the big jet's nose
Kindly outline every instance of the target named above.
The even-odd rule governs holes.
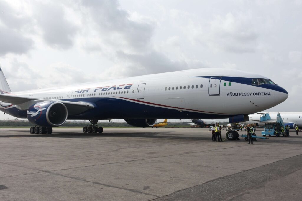
[[[261,132],[262,136],[285,136],[285,132],[281,133],[281,127],[285,130],[285,126],[280,113],[277,113],[276,120],[272,120],[271,116],[268,113],[265,113],[260,117],[260,122],[265,123],[264,131]]]

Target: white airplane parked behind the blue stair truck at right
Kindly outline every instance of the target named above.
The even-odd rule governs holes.
[[[255,124],[256,126],[264,126],[264,123],[260,122],[261,115],[268,113],[272,119],[277,118],[278,112],[259,112],[249,115],[249,121],[242,123]],[[279,112],[285,125],[289,125],[291,129],[294,129],[296,125],[302,126],[302,112]]]

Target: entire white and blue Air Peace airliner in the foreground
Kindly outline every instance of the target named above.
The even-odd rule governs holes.
[[[157,119],[242,121],[283,102],[288,92],[244,71],[201,68],[12,93],[0,68],[0,110],[27,118],[31,132],[51,133],[67,119],[90,120],[83,132],[103,132],[98,120],[125,119],[151,127]],[[266,83],[262,84],[262,81]],[[27,112],[37,112],[31,117]]]

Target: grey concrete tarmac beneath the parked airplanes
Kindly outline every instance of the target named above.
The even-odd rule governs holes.
[[[302,137],[290,135],[248,145],[212,142],[207,128],[0,128],[0,200],[302,200]]]

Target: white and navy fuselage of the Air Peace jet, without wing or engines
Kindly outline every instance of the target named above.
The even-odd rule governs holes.
[[[13,93],[46,100],[89,102],[95,107],[68,119],[217,119],[271,108],[288,93],[275,84],[252,85],[261,75],[193,69]],[[26,118],[26,110],[1,102],[1,111]]]

